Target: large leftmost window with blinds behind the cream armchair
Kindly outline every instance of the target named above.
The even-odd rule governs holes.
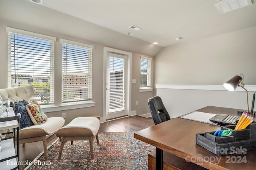
[[[54,103],[55,37],[6,27],[8,32],[8,88],[34,86],[32,100]]]

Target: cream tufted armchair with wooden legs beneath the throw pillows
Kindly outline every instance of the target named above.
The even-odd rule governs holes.
[[[30,101],[35,95],[32,85],[16,88],[0,89],[0,97],[10,98],[11,102],[19,102],[22,100]],[[45,160],[48,160],[47,143],[56,137],[56,132],[65,123],[62,117],[48,117],[44,124],[32,125],[20,130],[20,144],[42,141],[44,145]]]

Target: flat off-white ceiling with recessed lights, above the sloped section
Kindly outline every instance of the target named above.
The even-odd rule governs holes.
[[[256,4],[221,14],[217,0],[43,0],[42,6],[167,47],[256,26]],[[220,0],[219,0],[220,1]],[[139,31],[129,28],[135,25]],[[127,35],[128,36],[128,35]],[[176,41],[176,37],[182,37]]]

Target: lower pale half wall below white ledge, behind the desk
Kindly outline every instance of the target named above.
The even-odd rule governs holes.
[[[252,89],[256,91],[256,86],[253,86]],[[242,91],[230,92],[227,90],[214,89],[192,90],[157,88],[156,93],[162,98],[164,106],[171,118],[190,113],[206,106],[228,107],[247,111],[246,92],[243,89]],[[248,92],[249,110],[251,110],[252,107],[252,94],[253,92]]]

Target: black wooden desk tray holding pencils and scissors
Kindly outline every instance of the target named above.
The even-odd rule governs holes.
[[[222,126],[221,130],[234,130],[235,127]],[[196,143],[217,156],[256,150],[256,123],[252,123],[244,130],[233,131],[228,137],[216,137],[214,132],[196,134]]]

